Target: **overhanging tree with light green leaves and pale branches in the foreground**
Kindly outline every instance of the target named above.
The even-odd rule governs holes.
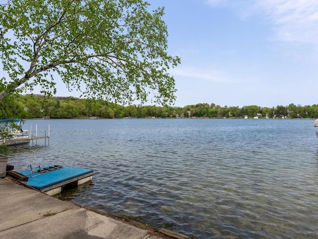
[[[175,100],[167,71],[164,8],[143,0],[16,0],[0,5],[0,100],[41,86],[56,93],[60,77],[86,98],[121,104]]]

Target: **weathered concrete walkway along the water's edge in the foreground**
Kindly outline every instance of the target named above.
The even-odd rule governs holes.
[[[164,239],[0,178],[0,238]]]

